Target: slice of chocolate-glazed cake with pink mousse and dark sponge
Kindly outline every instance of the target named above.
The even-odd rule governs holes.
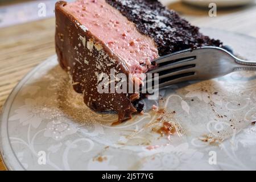
[[[155,0],[79,0],[56,3],[56,52],[73,88],[96,111],[114,110],[119,121],[140,112],[138,93],[100,93],[102,75],[132,75],[152,67],[159,56],[181,49],[221,46],[200,34],[174,11]],[[108,83],[111,84],[111,83]]]

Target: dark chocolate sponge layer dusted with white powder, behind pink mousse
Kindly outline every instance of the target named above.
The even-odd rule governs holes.
[[[201,46],[221,46],[219,40],[200,34],[175,11],[168,10],[157,0],[106,0],[134,22],[140,32],[151,36],[159,55]]]

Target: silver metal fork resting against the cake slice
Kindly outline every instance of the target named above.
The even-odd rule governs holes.
[[[235,71],[256,71],[256,62],[241,60],[220,47],[186,49],[154,60],[158,67],[147,73],[159,73],[159,89],[192,80],[208,80]]]

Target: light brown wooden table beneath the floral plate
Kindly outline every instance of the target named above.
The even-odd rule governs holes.
[[[168,7],[197,26],[220,28],[256,37],[255,3],[237,9],[217,10],[217,17],[213,18],[208,16],[208,9],[197,9],[176,1]],[[0,29],[0,110],[19,80],[55,53],[54,31],[54,18]],[[0,159],[0,170],[4,169]]]

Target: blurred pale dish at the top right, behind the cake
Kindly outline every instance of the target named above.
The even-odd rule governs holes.
[[[254,0],[181,0],[195,6],[207,6],[216,3],[218,7],[242,6],[254,2]]]

